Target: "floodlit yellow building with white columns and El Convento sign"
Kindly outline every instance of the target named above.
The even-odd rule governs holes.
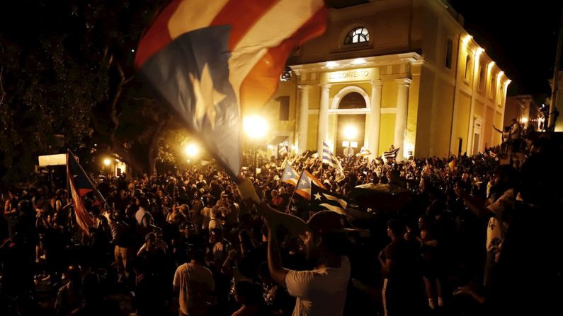
[[[503,124],[510,80],[445,1],[330,8],[326,32],[297,49],[290,69],[265,108],[272,136],[298,153],[327,141],[342,155],[353,141],[373,157],[391,145],[399,158],[444,157],[501,142],[492,126]]]

